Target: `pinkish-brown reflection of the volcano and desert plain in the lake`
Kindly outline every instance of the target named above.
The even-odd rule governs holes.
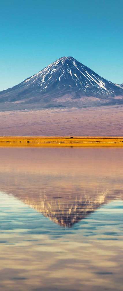
[[[0,190],[72,226],[101,205],[123,199],[121,151],[1,148]]]

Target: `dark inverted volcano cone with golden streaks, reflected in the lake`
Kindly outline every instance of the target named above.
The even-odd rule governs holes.
[[[12,194],[55,223],[67,227],[85,219],[98,207],[113,200],[115,196],[115,191],[112,193],[107,189],[100,189],[99,192],[99,190],[87,188],[87,185],[78,189],[69,188],[70,195],[68,195],[67,189],[62,187],[59,196],[56,196],[57,191],[54,188],[51,188],[50,191],[51,193],[47,194],[34,192],[32,194],[26,193],[26,190],[18,192],[16,189],[16,193],[13,191]],[[123,192],[117,194],[116,197],[123,198]]]

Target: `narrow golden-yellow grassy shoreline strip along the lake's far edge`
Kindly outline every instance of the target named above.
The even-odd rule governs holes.
[[[123,147],[123,137],[0,136],[0,147]]]

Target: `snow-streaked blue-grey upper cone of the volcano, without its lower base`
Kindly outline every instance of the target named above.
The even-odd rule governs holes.
[[[49,90],[75,90],[83,95],[116,95],[115,89],[122,88],[113,84],[94,71],[75,60],[72,56],[64,56],[51,63],[37,74],[27,78],[20,86],[37,84],[40,93]]]

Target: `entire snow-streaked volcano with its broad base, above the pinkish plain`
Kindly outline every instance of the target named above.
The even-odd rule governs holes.
[[[122,86],[100,77],[73,57],[59,58],[22,83],[0,92],[1,110],[122,103]]]

